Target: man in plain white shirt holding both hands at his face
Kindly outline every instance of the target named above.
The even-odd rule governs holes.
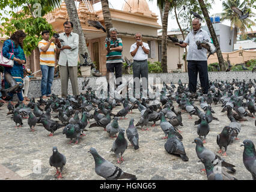
[[[135,98],[140,98],[140,79],[142,79],[143,97],[148,93],[148,53],[150,47],[142,42],[142,34],[135,34],[136,43],[130,46],[130,55],[133,56],[133,90],[135,89]]]

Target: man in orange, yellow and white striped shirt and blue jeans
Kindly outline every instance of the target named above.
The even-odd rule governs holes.
[[[54,76],[54,68],[56,67],[56,46],[53,43],[55,38],[49,40],[49,31],[41,32],[43,40],[39,41],[38,48],[40,51],[40,67],[42,73],[41,79],[41,95],[43,98],[50,97],[51,86]],[[58,41],[58,40],[56,40]]]

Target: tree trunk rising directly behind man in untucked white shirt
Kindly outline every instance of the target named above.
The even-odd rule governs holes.
[[[64,0],[66,7],[67,7],[67,13],[69,14],[69,20],[73,23],[73,32],[79,35],[79,59],[80,62],[84,61],[84,58],[81,56],[81,54],[88,53],[87,61],[91,62],[91,56],[88,52],[87,44],[85,42],[85,35],[82,30],[82,26],[80,23],[80,19],[78,17],[78,11],[76,10],[76,4],[74,0]]]

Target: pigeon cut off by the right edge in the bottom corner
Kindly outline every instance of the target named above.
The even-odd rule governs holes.
[[[252,174],[252,179],[256,180],[256,152],[254,143],[251,140],[246,139],[240,146],[245,147],[245,149],[243,149],[243,164]]]

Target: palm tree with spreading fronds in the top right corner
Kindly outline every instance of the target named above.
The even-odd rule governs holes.
[[[240,31],[242,33],[243,38],[246,36],[247,28],[251,29],[251,26],[255,26],[253,20],[249,19],[249,17],[255,16],[255,13],[250,13],[249,17],[246,19],[239,19],[236,13],[231,9],[231,7],[237,7],[240,10],[243,10],[243,13],[247,13],[248,9],[246,8],[247,1],[243,1],[240,3],[240,0],[227,0],[222,2],[223,13],[221,13],[221,20],[230,20],[231,29],[234,28],[234,44],[236,44],[237,33]],[[234,50],[233,44],[233,50]]]

